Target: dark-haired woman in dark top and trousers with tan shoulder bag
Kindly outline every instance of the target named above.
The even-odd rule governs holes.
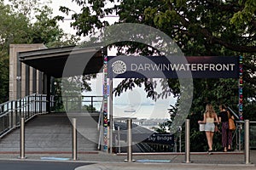
[[[229,139],[229,116],[228,112],[226,111],[226,107],[224,105],[219,105],[220,113],[218,115],[218,121],[221,122],[221,133],[222,133],[222,147],[224,148],[224,152],[227,151],[228,148],[228,139]],[[232,138],[232,132],[231,132],[231,138]],[[231,139],[232,142],[232,139]],[[230,149],[230,145],[229,145]]]

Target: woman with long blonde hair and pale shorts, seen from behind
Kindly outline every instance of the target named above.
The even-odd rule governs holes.
[[[216,112],[214,111],[213,107],[211,104],[207,104],[206,106],[206,111],[204,113],[204,120],[199,121],[199,123],[205,123],[205,132],[207,135],[207,143],[209,146],[208,154],[212,154],[212,139],[213,139],[213,134],[215,130],[215,125],[214,122],[218,122],[218,116]]]

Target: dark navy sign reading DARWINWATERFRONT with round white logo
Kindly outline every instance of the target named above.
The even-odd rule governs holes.
[[[186,56],[173,63],[166,56],[108,56],[109,78],[238,78],[239,57]],[[177,77],[177,72],[179,77]]]

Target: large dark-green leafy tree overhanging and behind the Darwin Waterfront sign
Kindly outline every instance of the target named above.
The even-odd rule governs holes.
[[[185,55],[243,56],[244,117],[255,120],[252,114],[256,100],[256,3],[254,0],[89,0],[87,3],[74,0],[73,2],[81,6],[81,13],[73,14],[75,21],[72,26],[78,30],[78,35],[85,36],[95,28],[108,26],[108,22],[100,20],[102,14],[118,14],[119,23],[140,23],[165,32],[177,42]],[[105,3],[113,3],[113,6],[108,8]],[[71,9],[61,8],[61,10],[68,13]],[[143,52],[145,49],[129,42],[116,45],[121,47],[129,45],[129,53]],[[115,90],[116,94],[120,94],[143,83],[148,97],[157,98],[165,96],[168,92],[179,97],[177,80],[165,81],[169,84],[169,88],[163,94],[154,93],[154,82],[148,79],[126,79]],[[201,118],[201,111],[204,111],[207,102],[213,102],[215,105],[225,103],[237,110],[237,80],[195,79],[194,87],[194,99],[190,111],[193,114],[189,117],[195,122]],[[215,109],[218,111],[218,108]],[[198,125],[195,123],[192,125],[193,131],[196,126]],[[197,143],[192,141],[191,144]]]

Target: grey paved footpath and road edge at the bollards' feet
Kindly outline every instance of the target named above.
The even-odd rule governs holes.
[[[19,159],[17,153],[0,153],[0,169],[4,170],[142,170],[142,169],[256,169],[256,151],[250,152],[250,162],[245,163],[242,151],[190,153],[189,162],[185,162],[184,153],[147,153],[132,155],[131,162],[125,161],[127,155],[104,152],[79,153],[73,160],[72,153],[26,153],[26,159]]]

